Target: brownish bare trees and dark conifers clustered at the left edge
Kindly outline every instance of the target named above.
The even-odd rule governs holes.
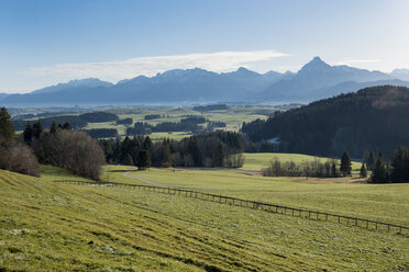
[[[104,156],[96,139],[73,131],[69,123],[52,123],[44,129],[42,122],[26,123],[16,136],[10,114],[0,109],[0,169],[40,175],[40,163],[62,167],[85,178],[98,180]]]

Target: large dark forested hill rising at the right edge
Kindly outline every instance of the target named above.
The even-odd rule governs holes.
[[[380,86],[320,100],[266,122],[243,124],[253,141],[278,137],[283,151],[361,158],[366,149],[386,155],[409,145],[409,89]]]

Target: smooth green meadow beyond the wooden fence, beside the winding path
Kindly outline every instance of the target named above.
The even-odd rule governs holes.
[[[265,178],[217,170],[174,172],[166,169],[151,169],[134,172],[133,175],[162,184],[213,189],[211,192],[245,200],[409,226],[408,183],[362,184],[345,179]],[[124,181],[133,182],[131,179]]]

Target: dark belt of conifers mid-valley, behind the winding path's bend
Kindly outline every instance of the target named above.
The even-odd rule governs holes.
[[[153,167],[241,167],[244,139],[237,133],[195,135],[153,143],[150,136],[100,140],[109,163]]]

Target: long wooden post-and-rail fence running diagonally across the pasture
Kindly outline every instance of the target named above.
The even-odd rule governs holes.
[[[338,214],[332,214],[332,213],[310,211],[310,209],[305,209],[305,208],[288,207],[288,206],[269,204],[269,203],[257,202],[257,201],[246,201],[246,200],[224,196],[220,194],[210,194],[210,193],[203,193],[199,191],[191,191],[191,190],[179,189],[179,188],[151,186],[151,185],[137,185],[137,184],[112,183],[112,182],[89,182],[89,181],[76,181],[76,180],[55,180],[55,182],[74,183],[74,184],[79,184],[79,185],[103,185],[103,186],[132,188],[132,189],[145,190],[145,191],[151,191],[151,192],[195,197],[195,199],[199,199],[203,201],[212,201],[212,202],[230,204],[234,206],[256,208],[256,209],[262,209],[262,211],[266,211],[270,213],[292,215],[292,216],[298,216],[298,217],[303,217],[303,218],[309,218],[309,219],[335,222],[339,224],[358,226],[358,227],[364,227],[367,229],[395,231],[397,234],[409,234],[409,227],[406,227],[406,226],[400,226],[400,225],[395,225],[395,224],[389,224],[389,223],[384,223],[384,222],[377,222],[377,220],[369,220],[369,219],[358,218],[354,216],[345,216],[345,215],[338,215]]]

